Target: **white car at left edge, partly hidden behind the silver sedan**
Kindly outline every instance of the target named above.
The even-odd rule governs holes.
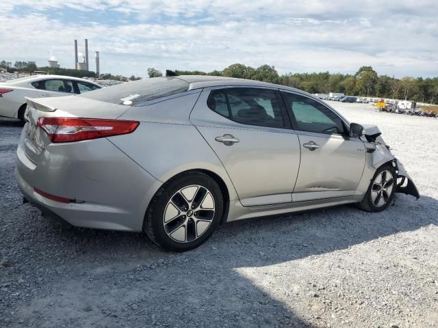
[[[0,116],[25,121],[25,97],[47,98],[83,94],[101,85],[77,77],[34,75],[0,83]]]

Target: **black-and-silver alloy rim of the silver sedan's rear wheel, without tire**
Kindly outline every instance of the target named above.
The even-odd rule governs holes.
[[[179,189],[168,201],[163,215],[166,234],[174,241],[188,243],[207,231],[214,218],[213,194],[193,184]]]

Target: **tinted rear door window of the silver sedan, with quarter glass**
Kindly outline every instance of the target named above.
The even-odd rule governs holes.
[[[207,105],[216,113],[242,124],[285,127],[279,99],[274,90],[253,87],[215,90],[211,92]]]

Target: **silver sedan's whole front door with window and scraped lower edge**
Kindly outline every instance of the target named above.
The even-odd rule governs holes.
[[[298,133],[301,161],[294,202],[354,195],[365,167],[365,145],[319,100],[281,92]]]

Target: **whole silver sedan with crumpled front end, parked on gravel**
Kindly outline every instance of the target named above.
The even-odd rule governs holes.
[[[28,98],[25,120],[15,173],[26,200],[74,226],[143,230],[172,251],[228,221],[420,197],[376,126],[282,85],[144,79]]]

